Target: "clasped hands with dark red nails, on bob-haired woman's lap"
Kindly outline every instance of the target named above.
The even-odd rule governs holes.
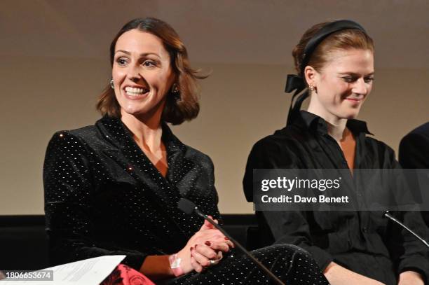
[[[216,220],[214,221],[217,223]],[[204,221],[200,230],[177,253],[177,257],[182,259],[180,267],[184,274],[192,270],[201,272],[205,267],[219,263],[222,252],[228,252],[231,247],[234,247],[234,244],[222,232],[214,228],[211,223]]]

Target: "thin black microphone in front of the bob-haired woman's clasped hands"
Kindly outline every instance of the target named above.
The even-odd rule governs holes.
[[[182,198],[177,203],[177,207],[180,210],[184,211],[185,214],[190,215],[193,212],[195,212],[196,214],[198,214],[198,216],[203,217],[206,221],[214,225],[214,228],[217,228],[220,232],[222,232],[225,235],[225,237],[228,237],[231,240],[231,242],[233,242],[241,251],[243,251],[243,253],[249,256],[249,258],[252,259],[254,263],[256,263],[261,268],[261,270],[266,272],[266,274],[268,274],[268,276],[271,277],[277,284],[285,285],[280,279],[278,279],[277,276],[273,274],[273,272],[271,272],[267,267],[265,267],[262,263],[260,263],[259,260],[257,260],[257,258],[252,256],[252,253],[247,251],[247,249],[245,249],[239,242],[237,242],[236,239],[231,237],[231,235],[229,235],[223,228],[221,228],[220,225],[218,225],[217,223],[214,223],[214,221],[211,218],[203,214],[203,212],[200,211],[198,207],[196,207],[196,204],[194,204],[193,202],[185,198]]]

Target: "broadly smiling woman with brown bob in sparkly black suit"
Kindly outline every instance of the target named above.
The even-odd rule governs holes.
[[[270,284],[210,223],[177,209],[182,197],[220,219],[210,158],[167,123],[198,114],[186,48],[167,23],[128,22],[110,48],[112,79],[95,125],[54,134],[43,169],[53,263],[123,254],[164,284]],[[287,284],[327,284],[306,251],[277,245],[254,255]],[[310,271],[308,271],[310,270]],[[162,279],[162,280],[161,280]]]

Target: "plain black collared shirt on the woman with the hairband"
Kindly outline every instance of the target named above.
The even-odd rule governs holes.
[[[356,139],[355,168],[400,168],[393,150],[371,137],[365,122],[348,120]],[[253,169],[348,168],[339,144],[329,136],[327,123],[301,111],[292,125],[257,141],[250,152],[243,186],[252,202]],[[268,225],[276,243],[301,246],[324,269],[334,261],[354,272],[385,284],[397,284],[400,272],[414,270],[429,275],[429,254],[423,244],[373,211],[263,211],[261,228]],[[428,236],[417,212],[397,212],[423,237]]]

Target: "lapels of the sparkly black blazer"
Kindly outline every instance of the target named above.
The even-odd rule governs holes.
[[[144,195],[150,194],[153,197],[159,204],[160,211],[170,216],[180,230],[191,235],[195,229],[189,228],[189,223],[183,223],[184,213],[177,209],[177,202],[191,188],[188,185],[183,186],[181,181],[196,168],[193,162],[184,159],[186,146],[171,133],[167,125],[163,125],[163,141],[168,151],[168,174],[165,179],[137,146],[120,119],[104,116],[96,125],[104,138],[114,146],[103,152],[142,186]]]

